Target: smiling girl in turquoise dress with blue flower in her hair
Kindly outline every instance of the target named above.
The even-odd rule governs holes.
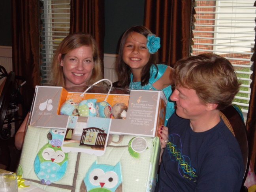
[[[119,87],[130,89],[163,90],[168,100],[164,124],[174,112],[170,102],[173,68],[158,62],[160,38],[145,26],[133,26],[124,32],[120,41],[118,71]]]

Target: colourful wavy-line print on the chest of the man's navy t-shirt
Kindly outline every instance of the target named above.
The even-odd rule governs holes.
[[[179,165],[179,174],[181,177],[187,179],[193,179],[196,181],[196,169],[194,169],[190,164],[190,158],[182,154],[182,142],[178,134],[170,134],[167,143],[168,154],[171,161],[177,161]]]

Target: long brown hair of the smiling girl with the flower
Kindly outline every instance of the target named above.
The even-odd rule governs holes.
[[[152,34],[149,29],[147,29],[145,26],[132,26],[124,34],[122,35],[122,38],[120,40],[120,45],[119,45],[119,53],[118,53],[118,59],[117,59],[117,70],[118,70],[118,75],[119,75],[119,87],[129,87],[129,84],[131,82],[130,75],[131,75],[131,70],[130,67],[124,62],[122,59],[122,52],[124,49],[124,44],[127,39],[127,37],[132,33],[132,32],[137,32],[147,38],[148,34]],[[158,62],[158,52],[151,54],[149,58],[149,62],[142,68],[141,70],[141,86],[147,85],[149,83],[149,78],[150,78],[150,68],[151,65],[155,65]],[[157,66],[156,66],[157,67]]]

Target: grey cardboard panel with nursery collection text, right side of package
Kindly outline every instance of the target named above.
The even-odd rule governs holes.
[[[166,97],[154,90],[131,90],[126,119],[111,123],[113,134],[156,136],[164,124]]]

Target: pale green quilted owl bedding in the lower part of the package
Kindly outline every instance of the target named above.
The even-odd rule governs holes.
[[[62,151],[54,134],[50,128],[28,126],[18,175],[49,192],[154,189],[160,153],[158,137],[111,134],[105,153],[96,156]]]

